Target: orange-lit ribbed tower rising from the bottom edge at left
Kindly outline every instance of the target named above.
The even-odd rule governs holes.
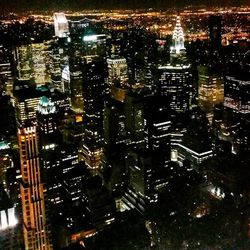
[[[44,184],[39,159],[38,133],[35,125],[18,129],[21,162],[21,201],[24,245],[27,250],[51,250],[46,220]]]

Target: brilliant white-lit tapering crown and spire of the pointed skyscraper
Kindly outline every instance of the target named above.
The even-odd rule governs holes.
[[[176,25],[173,31],[173,46],[171,47],[171,53],[179,54],[182,50],[185,50],[184,47],[184,32],[181,27],[181,19],[177,16]]]

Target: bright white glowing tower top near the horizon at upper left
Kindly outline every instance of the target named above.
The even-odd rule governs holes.
[[[55,36],[67,37],[69,32],[68,20],[64,13],[54,13]]]

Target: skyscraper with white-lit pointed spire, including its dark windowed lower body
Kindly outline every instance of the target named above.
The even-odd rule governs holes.
[[[186,60],[184,32],[179,17],[177,17],[172,40],[170,64],[158,67],[156,93],[169,98],[172,110],[186,112],[191,100],[193,78],[190,64]]]

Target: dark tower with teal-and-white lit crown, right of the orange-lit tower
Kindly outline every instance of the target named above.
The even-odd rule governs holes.
[[[46,182],[47,199],[51,202],[58,201],[60,193],[61,158],[60,145],[61,134],[59,131],[58,112],[55,103],[43,96],[40,98],[37,110],[37,122],[39,131],[39,151],[41,168]],[[56,197],[55,197],[56,194]]]

